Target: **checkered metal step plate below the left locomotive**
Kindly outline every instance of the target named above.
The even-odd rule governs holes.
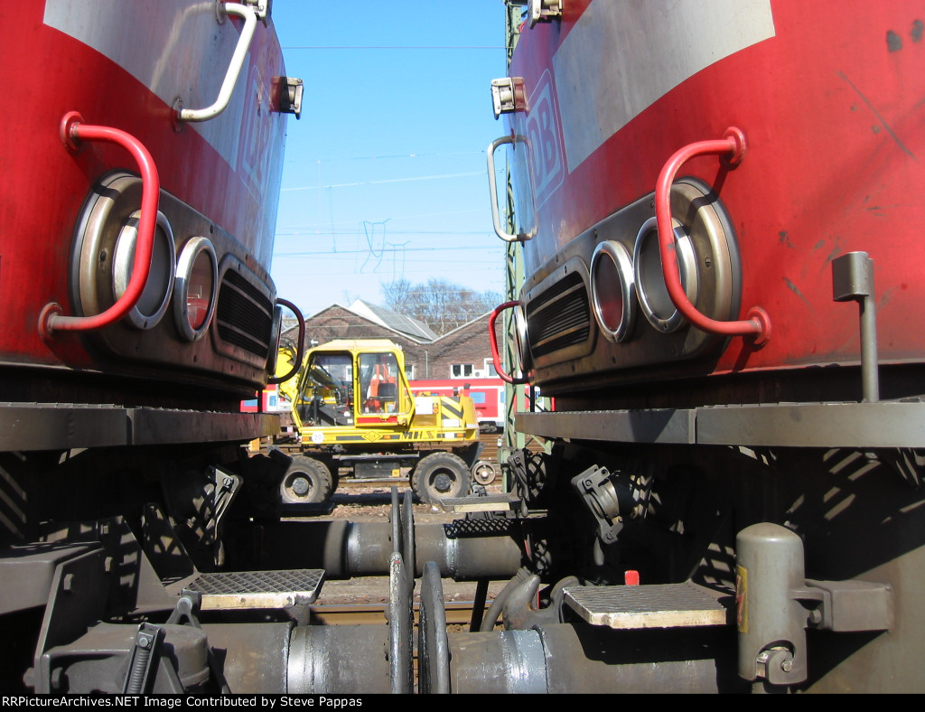
[[[230,608],[290,608],[314,603],[323,569],[201,573],[184,587],[203,595],[203,610]]]

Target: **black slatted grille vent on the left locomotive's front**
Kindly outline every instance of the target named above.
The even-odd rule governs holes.
[[[218,336],[265,359],[273,329],[273,302],[247,279],[229,269],[222,276],[216,306]]]

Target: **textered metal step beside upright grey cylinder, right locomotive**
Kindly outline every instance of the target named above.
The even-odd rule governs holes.
[[[734,595],[692,582],[648,586],[575,586],[564,602],[592,625],[620,630],[728,625]]]

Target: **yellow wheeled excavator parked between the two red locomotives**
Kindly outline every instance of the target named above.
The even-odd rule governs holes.
[[[277,368],[289,370],[292,358],[281,348]],[[464,386],[454,396],[413,395],[393,341],[336,339],[309,349],[279,391],[300,448],[279,484],[282,505],[326,501],[341,475],[407,477],[424,502],[470,493],[482,448],[475,401]]]

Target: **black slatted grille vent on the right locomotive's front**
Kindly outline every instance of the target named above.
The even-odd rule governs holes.
[[[591,310],[581,275],[562,277],[528,303],[526,324],[534,358],[585,344],[591,333]]]

